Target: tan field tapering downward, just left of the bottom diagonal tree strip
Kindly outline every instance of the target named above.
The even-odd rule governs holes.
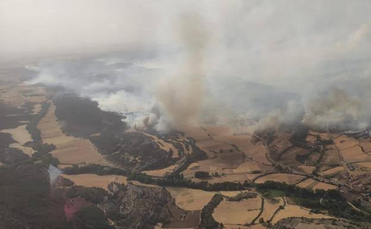
[[[166,190],[175,198],[178,207],[188,211],[201,210],[215,194],[215,192],[179,187],[166,187]]]

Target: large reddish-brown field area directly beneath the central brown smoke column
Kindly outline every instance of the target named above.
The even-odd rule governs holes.
[[[183,172],[184,176],[193,176],[195,171],[237,174],[271,169],[270,163],[266,158],[264,145],[262,143],[252,144],[251,135],[233,135],[229,128],[224,126],[207,128],[207,132],[214,140],[201,128],[184,132],[187,136],[194,138],[198,147],[209,156],[207,160],[198,161],[198,169],[194,164],[188,166]],[[240,151],[236,150],[232,145],[236,145]],[[243,154],[246,156],[244,162]]]

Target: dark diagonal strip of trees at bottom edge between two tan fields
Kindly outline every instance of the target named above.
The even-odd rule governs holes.
[[[219,226],[219,223],[213,217],[213,212],[222,200],[223,196],[221,194],[215,194],[210,202],[203,207],[201,210],[201,222],[198,228],[213,229]]]

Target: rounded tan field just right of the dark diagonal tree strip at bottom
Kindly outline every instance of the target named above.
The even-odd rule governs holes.
[[[223,200],[215,209],[213,217],[223,224],[244,224],[259,214],[262,204],[260,197],[240,201]]]

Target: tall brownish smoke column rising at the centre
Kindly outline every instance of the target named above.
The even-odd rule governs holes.
[[[205,52],[209,34],[200,15],[187,13],[177,23],[184,60],[157,92],[165,120],[158,130],[184,129],[198,124],[205,96]]]

